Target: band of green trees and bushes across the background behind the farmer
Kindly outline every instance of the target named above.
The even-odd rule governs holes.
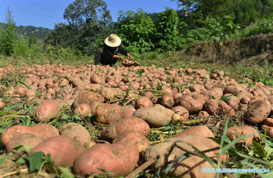
[[[118,21],[113,22],[103,0],[76,0],[65,9],[68,24],[55,24],[52,31],[40,29],[38,36],[30,35],[36,29],[18,29],[8,9],[6,23],[0,27],[0,54],[15,60],[37,60],[39,56],[64,56],[65,51],[65,56],[80,59],[102,50],[103,40],[111,33],[120,36],[130,53],[141,54],[273,32],[272,0],[177,0],[177,4],[182,8],[179,11],[120,11]],[[42,41],[44,33],[48,34]]]

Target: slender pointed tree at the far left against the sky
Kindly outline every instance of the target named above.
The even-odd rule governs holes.
[[[5,28],[0,30],[0,53],[4,53],[5,55],[11,55],[14,50],[14,45],[17,40],[17,31],[15,22],[11,15],[12,11],[8,9],[5,14],[6,25]]]

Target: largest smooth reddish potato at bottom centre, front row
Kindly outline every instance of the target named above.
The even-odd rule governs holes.
[[[103,173],[103,170],[116,176],[126,176],[131,173],[139,159],[138,150],[127,143],[96,144],[80,154],[74,164],[73,172],[79,176],[89,176],[90,173]]]

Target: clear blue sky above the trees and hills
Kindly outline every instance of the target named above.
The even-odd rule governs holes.
[[[16,25],[36,26],[54,29],[55,23],[66,22],[63,19],[65,8],[73,0],[0,0],[0,22],[5,22],[5,11],[9,6]],[[170,0],[105,0],[113,21],[118,18],[118,11],[136,11],[142,8],[145,12],[162,12],[165,7],[177,10],[175,1]]]

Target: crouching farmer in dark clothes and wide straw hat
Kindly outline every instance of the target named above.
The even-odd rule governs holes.
[[[133,57],[120,45],[120,43],[120,37],[116,36],[115,34],[111,34],[109,37],[107,37],[104,40],[102,53],[97,50],[95,54],[95,65],[101,63],[103,65],[112,66],[118,59],[125,60],[123,56],[119,56],[117,54],[118,52],[126,55],[129,60],[132,60]]]

